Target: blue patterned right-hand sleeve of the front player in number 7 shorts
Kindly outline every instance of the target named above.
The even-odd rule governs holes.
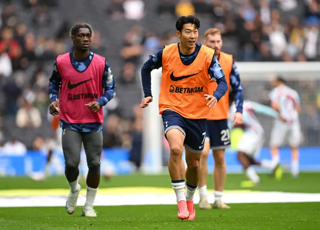
[[[217,101],[219,101],[219,99],[221,99],[221,97],[225,94],[226,90],[228,90],[228,84],[226,83],[224,72],[215,55],[213,55],[212,57],[208,73],[210,78],[213,81],[216,81],[216,83],[218,84],[213,93],[213,96],[217,99]]]

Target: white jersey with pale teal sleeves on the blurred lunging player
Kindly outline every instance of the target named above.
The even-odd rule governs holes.
[[[229,110],[229,124],[233,126],[231,119],[236,112],[235,104],[233,103]],[[269,106],[256,103],[250,100],[243,101],[243,111],[242,111],[242,124],[245,129],[250,129],[258,134],[263,133],[263,127],[261,126],[259,120],[256,117],[256,113],[264,114],[267,116],[276,117],[277,112]]]

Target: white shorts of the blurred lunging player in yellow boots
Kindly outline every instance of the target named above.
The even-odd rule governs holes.
[[[244,152],[252,158],[257,157],[263,145],[263,134],[247,129],[243,132],[242,138],[237,146],[237,151]]]

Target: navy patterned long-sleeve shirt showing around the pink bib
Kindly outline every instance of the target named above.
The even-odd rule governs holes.
[[[83,72],[90,64],[93,58],[93,52],[90,52],[89,56],[84,61],[77,61],[73,58],[72,52],[70,52],[71,63],[74,68],[79,72]],[[49,97],[50,102],[58,100],[58,92],[61,85],[61,77],[58,73],[56,62],[53,65],[53,71],[49,79]],[[113,74],[110,69],[109,64],[105,61],[104,74],[102,77],[102,87],[104,88],[104,93],[102,96],[96,99],[100,106],[104,106],[108,101],[110,101],[116,93],[116,87],[114,85]],[[101,131],[101,123],[69,123],[64,120],[60,120],[60,127],[70,128],[79,132],[91,132],[91,131]]]

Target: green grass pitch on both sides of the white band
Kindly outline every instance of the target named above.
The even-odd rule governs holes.
[[[280,181],[261,174],[261,184],[241,188],[242,174],[228,174],[225,189],[320,193],[320,173],[301,173]],[[166,187],[168,175],[117,175],[101,179],[100,188]],[[63,177],[37,182],[27,177],[0,178],[0,192],[7,189],[67,188]],[[82,187],[85,184],[82,181]],[[211,175],[208,188],[213,188]],[[13,191],[13,190],[12,190]],[[9,191],[8,191],[9,192]],[[173,191],[172,191],[173,192]],[[96,206],[98,217],[81,216],[81,207],[68,215],[64,207],[0,207],[0,229],[320,229],[320,203],[232,203],[231,209],[200,210],[194,221],[179,220],[176,205]]]

